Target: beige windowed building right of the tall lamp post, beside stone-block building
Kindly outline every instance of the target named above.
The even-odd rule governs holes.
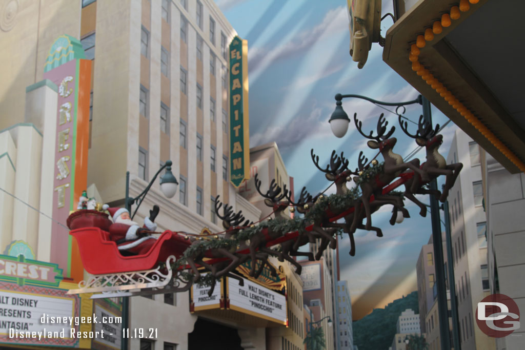
[[[461,162],[463,170],[448,196],[454,277],[458,305],[461,348],[490,349],[493,338],[476,326],[476,308],[490,293],[487,266],[487,218],[479,146],[457,130],[447,156],[447,163]]]

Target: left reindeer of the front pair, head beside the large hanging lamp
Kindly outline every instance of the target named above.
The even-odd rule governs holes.
[[[361,185],[361,190],[363,193],[361,196],[361,200],[363,202],[363,207],[366,213],[365,229],[370,230],[372,227],[370,209],[370,197],[372,195],[374,196],[375,200],[384,200],[388,201],[388,203],[395,203],[394,206],[402,211],[403,217],[410,217],[408,210],[404,208],[403,200],[398,196],[388,194],[383,195],[382,189],[384,186],[390,184],[394,178],[399,176],[402,172],[406,171],[407,169],[412,169],[415,173],[421,175],[424,181],[429,181],[428,173],[424,172],[422,169],[419,169],[418,159],[414,159],[412,161],[409,161],[408,163],[404,163],[403,157],[392,151],[393,147],[397,142],[397,139],[395,137],[389,137],[392,136],[392,134],[394,133],[395,126],[392,126],[390,131],[388,131],[388,133],[385,134],[388,122],[385,121],[383,113],[381,113],[379,120],[377,121],[376,136],[373,136],[373,131],[371,131],[369,135],[365,134],[362,131],[362,123],[357,119],[357,113],[354,113],[354,122],[359,133],[366,137],[366,139],[370,139],[370,141],[367,142],[367,145],[371,149],[379,149],[379,152],[383,156],[384,160],[383,172],[370,179],[370,181],[362,183]],[[354,221],[352,229],[355,229],[356,226],[356,221]]]

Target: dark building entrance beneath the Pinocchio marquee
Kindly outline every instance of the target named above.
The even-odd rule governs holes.
[[[199,317],[193,332],[188,334],[189,350],[243,350],[235,328]]]

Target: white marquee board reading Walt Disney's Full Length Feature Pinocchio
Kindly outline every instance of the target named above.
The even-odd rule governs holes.
[[[247,313],[280,324],[286,324],[287,309],[284,295],[271,291],[254,282],[227,278],[226,298],[229,309]]]

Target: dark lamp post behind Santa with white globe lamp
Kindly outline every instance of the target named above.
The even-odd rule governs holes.
[[[177,192],[178,182],[175,176],[173,175],[173,173],[171,172],[172,164],[173,164],[172,161],[166,161],[166,163],[159,169],[159,171],[156,172],[155,176],[153,176],[148,186],[146,186],[146,188],[142,191],[142,193],[135,198],[131,198],[129,196],[130,172],[126,172],[126,196],[124,199],[125,208],[128,209],[128,211],[131,213],[131,206],[133,204],[137,204],[137,208],[135,208],[135,211],[133,212],[131,219],[133,219],[135,214],[137,214],[137,210],[142,204],[142,201],[144,200],[144,198],[146,197],[146,194],[148,194],[151,186],[155,182],[155,179],[157,178],[157,176],[159,176],[159,174],[164,169],[166,169],[166,173],[160,178],[162,193],[167,198],[171,198],[175,195],[175,193]],[[129,296],[124,296],[122,298],[122,328],[128,328],[128,323],[129,323]],[[122,335],[124,335],[124,332],[122,332]],[[120,348],[122,350],[128,350],[128,338],[122,336]]]

